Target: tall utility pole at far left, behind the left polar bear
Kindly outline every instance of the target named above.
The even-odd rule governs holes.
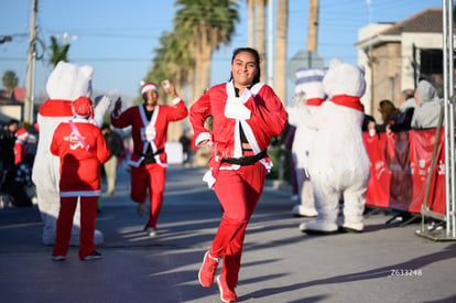
[[[28,50],[28,67],[25,83],[24,123],[33,123],[33,105],[35,99],[35,62],[36,62],[36,13],[37,0],[32,0],[32,17],[30,21],[30,36]]]

